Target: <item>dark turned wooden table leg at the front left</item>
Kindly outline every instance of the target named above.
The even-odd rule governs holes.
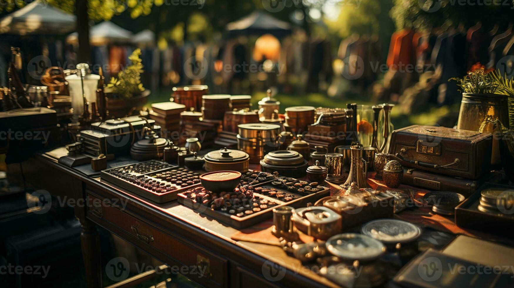
[[[102,287],[102,263],[100,254],[100,238],[95,223],[84,219],[80,221],[82,231],[80,232],[80,244],[82,247],[82,258],[86,269],[88,288]]]

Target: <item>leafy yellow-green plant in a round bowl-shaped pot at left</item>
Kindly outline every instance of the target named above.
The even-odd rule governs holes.
[[[141,83],[143,64],[140,55],[141,50],[135,49],[128,57],[131,65],[119,71],[118,78],[112,77],[105,86],[107,110],[109,115],[115,118],[132,115],[141,110],[150,95],[150,91]]]

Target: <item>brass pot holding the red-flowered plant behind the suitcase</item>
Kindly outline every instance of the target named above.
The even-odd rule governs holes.
[[[462,94],[461,110],[458,113],[457,129],[479,131],[487,117],[499,119],[502,123],[509,122],[508,96],[500,94]],[[492,125],[485,127],[483,132],[492,133]],[[501,163],[498,139],[492,140],[491,165]]]

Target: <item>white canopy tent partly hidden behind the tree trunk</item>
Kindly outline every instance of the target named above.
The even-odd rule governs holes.
[[[73,32],[68,35],[66,41],[74,43],[78,41],[78,33]],[[132,41],[132,32],[121,28],[111,21],[101,22],[89,30],[89,43],[101,45],[113,42],[128,43]]]

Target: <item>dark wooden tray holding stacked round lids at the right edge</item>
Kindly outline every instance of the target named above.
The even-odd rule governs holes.
[[[514,231],[509,229],[509,227],[514,227],[514,213],[506,214],[498,211],[497,214],[493,214],[482,212],[478,209],[480,197],[482,196],[481,192],[487,188],[514,189],[508,185],[484,183],[468,199],[455,207],[455,224],[460,227],[486,231],[497,235],[514,236]],[[514,212],[512,209],[514,207],[507,207],[507,210]]]

